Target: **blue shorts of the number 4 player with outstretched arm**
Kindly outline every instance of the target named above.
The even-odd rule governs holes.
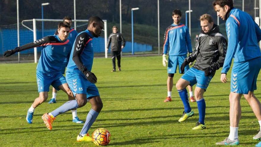
[[[50,85],[52,85],[52,87],[56,90],[60,90],[58,87],[64,83],[67,83],[62,73],[47,74],[36,71],[36,80],[38,92],[48,92]]]

